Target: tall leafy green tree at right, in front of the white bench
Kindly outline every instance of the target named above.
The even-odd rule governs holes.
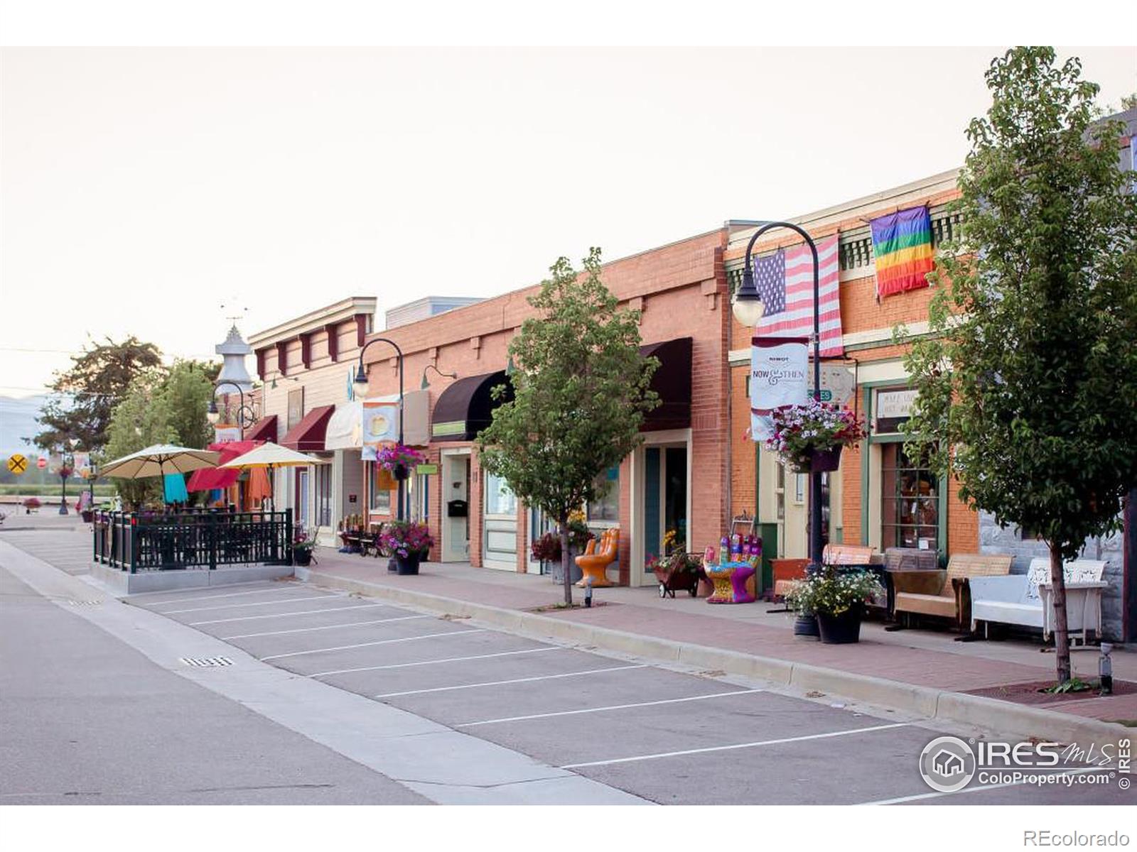
[[[958,242],[931,277],[931,336],[906,366],[906,431],[960,495],[1051,551],[1057,677],[1070,678],[1063,559],[1119,526],[1137,483],[1137,197],[1120,123],[1051,48],[995,59],[968,127]]]

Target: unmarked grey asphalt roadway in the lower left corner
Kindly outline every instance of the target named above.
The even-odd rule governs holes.
[[[2,567],[0,719],[3,804],[426,802],[156,666]]]

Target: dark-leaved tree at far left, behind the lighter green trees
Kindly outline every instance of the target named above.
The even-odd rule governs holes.
[[[84,450],[97,452],[107,442],[107,427],[115,406],[131,382],[161,366],[161,353],[152,343],[130,336],[122,343],[106,342],[72,356],[72,366],[56,373],[52,396],[40,411],[44,427],[34,438],[43,450],[53,450],[78,438]]]

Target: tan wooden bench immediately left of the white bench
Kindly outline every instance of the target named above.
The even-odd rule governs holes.
[[[956,627],[971,621],[971,577],[993,577],[1010,573],[1011,557],[1002,554],[955,553],[947,570],[891,571],[895,590],[894,611],[907,617],[936,616],[946,618]]]

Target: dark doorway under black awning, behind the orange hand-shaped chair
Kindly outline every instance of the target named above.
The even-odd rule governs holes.
[[[687,550],[687,444],[644,449],[645,561],[653,556]],[[654,575],[644,573],[641,583],[652,585],[655,582]]]

